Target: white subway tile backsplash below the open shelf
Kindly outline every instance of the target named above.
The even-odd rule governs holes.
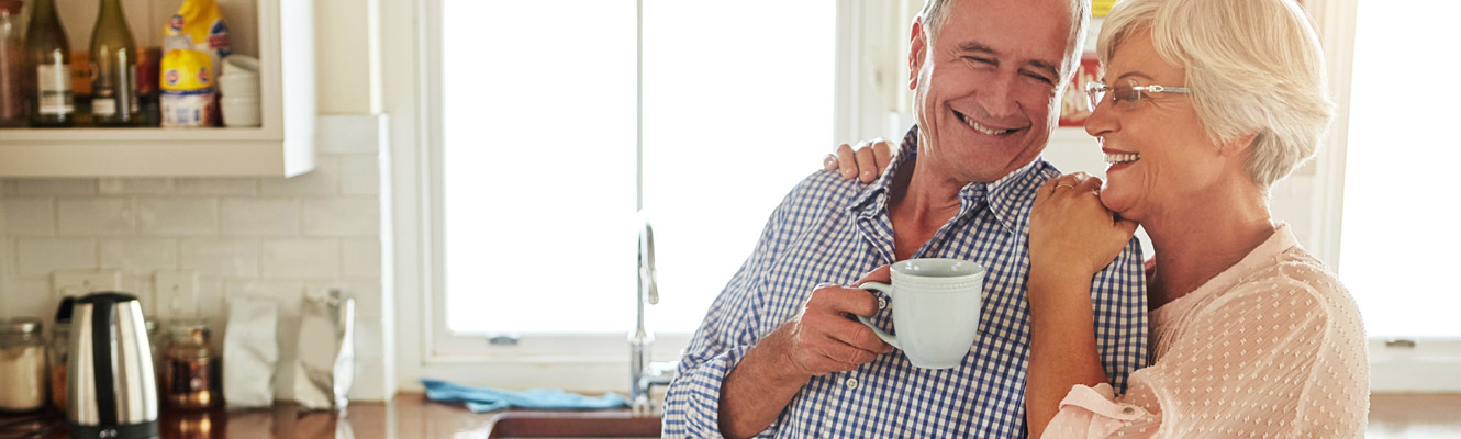
[[[199,274],[197,312],[226,334],[226,296],[279,300],[276,389],[289,397],[305,289],[356,299],[354,395],[384,398],[390,365],[381,292],[383,117],[323,117],[317,168],[283,178],[64,178],[0,181],[0,306],[48,318],[56,270],[117,270],[121,289],[158,309],[158,270]],[[333,127],[333,128],[332,128]]]

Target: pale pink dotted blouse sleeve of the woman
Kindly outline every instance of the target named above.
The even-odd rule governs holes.
[[[1132,373],[1125,395],[1109,385],[1072,388],[1045,438],[1363,435],[1344,421],[1353,417],[1332,416],[1350,408],[1312,401],[1349,385],[1330,381],[1334,368],[1359,368],[1325,360],[1334,331],[1325,302],[1299,281],[1259,283],[1170,322],[1180,325],[1172,349]]]

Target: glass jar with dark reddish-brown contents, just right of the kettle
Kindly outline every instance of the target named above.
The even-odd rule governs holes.
[[[162,400],[174,408],[218,405],[222,368],[209,346],[207,322],[175,321],[169,327],[172,343],[162,354]]]

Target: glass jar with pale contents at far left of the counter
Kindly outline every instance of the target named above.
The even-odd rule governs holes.
[[[41,321],[0,322],[0,411],[45,407],[45,340]]]

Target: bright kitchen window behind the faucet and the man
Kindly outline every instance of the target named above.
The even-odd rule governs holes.
[[[834,120],[859,117],[834,105],[855,95],[837,92],[858,32],[840,23],[878,3],[422,1],[416,375],[618,391],[637,210],[656,235],[655,359],[672,360]]]

